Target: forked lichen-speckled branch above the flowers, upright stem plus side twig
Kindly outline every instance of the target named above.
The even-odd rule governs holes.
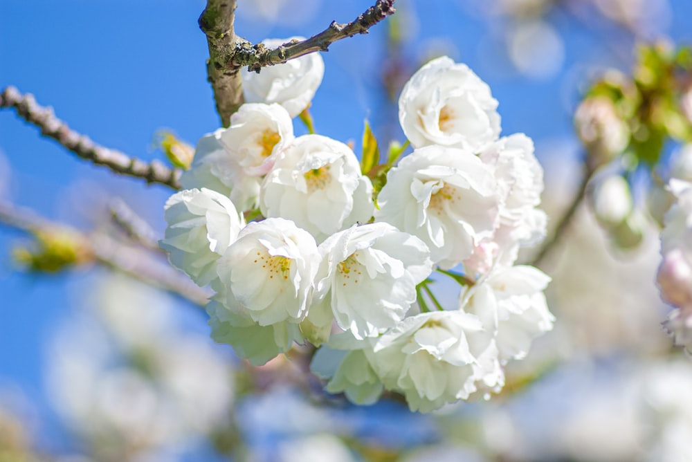
[[[259,72],[264,66],[283,64],[316,51],[327,51],[337,40],[367,34],[368,30],[385,17],[394,14],[394,0],[377,0],[363,14],[347,24],[331,21],[329,27],[305,40],[293,40],[271,49],[264,44],[251,42],[235,35],[235,0],[207,0],[207,6],[199,17],[199,28],[207,36],[209,59],[208,80],[214,90],[214,100],[221,124],[228,127],[230,115],[243,104],[240,69],[248,66]]]

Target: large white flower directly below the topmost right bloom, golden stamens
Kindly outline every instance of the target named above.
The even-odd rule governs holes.
[[[416,149],[387,174],[377,221],[419,237],[433,263],[451,268],[492,237],[500,196],[490,167],[470,151],[442,146]]]

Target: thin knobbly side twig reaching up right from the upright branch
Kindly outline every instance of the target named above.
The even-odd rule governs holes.
[[[363,14],[348,24],[339,24],[331,21],[329,27],[318,35],[313,35],[305,40],[292,40],[272,50],[264,44],[251,45],[248,42],[238,42],[233,56],[233,64],[236,66],[248,66],[249,71],[260,72],[264,66],[283,64],[289,59],[295,59],[316,51],[329,51],[329,45],[346,37],[356,34],[367,34],[368,30],[379,23],[385,17],[393,15],[394,0],[377,0]]]

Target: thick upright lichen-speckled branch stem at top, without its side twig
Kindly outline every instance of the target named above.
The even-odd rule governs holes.
[[[233,64],[237,41],[242,40],[235,36],[233,29],[235,7],[235,0],[207,0],[207,6],[197,21],[207,36],[207,77],[212,84],[217,112],[224,127],[230,125],[230,115],[244,102],[240,75],[242,66]]]

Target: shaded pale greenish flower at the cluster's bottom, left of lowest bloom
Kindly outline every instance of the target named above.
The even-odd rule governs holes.
[[[332,335],[313,356],[310,370],[329,380],[325,387],[329,393],[344,393],[352,403],[370,405],[384,389],[368,359],[373,343],[373,339],[356,340],[350,333]]]

